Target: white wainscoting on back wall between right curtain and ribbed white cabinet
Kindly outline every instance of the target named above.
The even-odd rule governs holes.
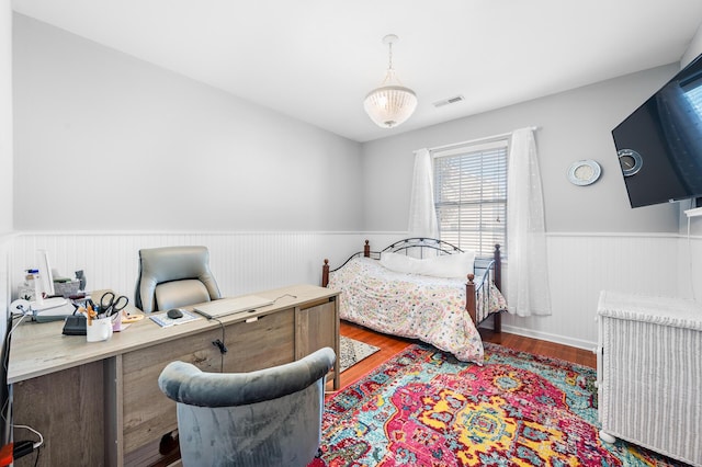
[[[547,241],[553,315],[503,315],[507,332],[593,349],[601,291],[679,294],[680,236],[551,234]],[[702,267],[702,257],[698,263]]]

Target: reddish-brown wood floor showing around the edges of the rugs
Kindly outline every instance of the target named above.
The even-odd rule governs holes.
[[[361,326],[341,321],[341,335],[346,335],[356,341],[365,342],[371,345],[381,348],[381,350],[367,358],[356,363],[341,374],[341,387],[348,386],[356,379],[365,376],[376,366],[394,356],[407,345],[415,341],[410,339],[396,338],[388,334],[372,331]],[[523,335],[510,334],[502,332],[496,334],[490,330],[480,329],[480,337],[485,342],[494,342],[518,351],[530,352],[539,355],[552,356],[580,365],[596,367],[597,357],[592,351],[571,348],[568,345],[556,344],[548,341],[525,338]],[[330,388],[331,386],[329,386]],[[329,392],[329,390],[328,390]]]

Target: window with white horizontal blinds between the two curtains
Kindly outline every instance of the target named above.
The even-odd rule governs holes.
[[[506,255],[508,140],[432,151],[434,204],[442,240],[480,257]]]

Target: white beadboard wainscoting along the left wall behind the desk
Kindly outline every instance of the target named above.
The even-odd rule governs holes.
[[[202,244],[210,249],[222,293],[235,296],[319,284],[325,258],[341,262],[361,249],[364,238],[354,232],[21,234],[14,240],[10,275],[15,289],[23,271],[36,264],[37,250],[44,249],[61,275],[72,277],[82,270],[88,289],[112,288],[133,297],[139,249]]]

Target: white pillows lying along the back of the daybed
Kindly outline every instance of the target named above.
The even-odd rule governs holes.
[[[435,258],[418,260],[401,253],[382,253],[381,264],[390,271],[405,274],[421,274],[433,277],[466,278],[473,274],[475,251],[443,254]]]

